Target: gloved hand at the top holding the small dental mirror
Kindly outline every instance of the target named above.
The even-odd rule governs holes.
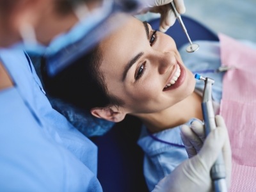
[[[180,14],[186,12],[184,0],[146,0],[146,5],[150,8],[149,12],[160,13],[161,20],[159,31],[166,32],[170,26],[173,26],[176,17],[172,10],[171,2],[174,1],[177,12]]]

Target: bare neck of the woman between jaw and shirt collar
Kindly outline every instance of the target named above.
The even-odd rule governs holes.
[[[136,116],[142,120],[150,132],[159,132],[185,124],[191,118],[202,120],[201,101],[200,95],[193,92],[186,99],[163,111]]]

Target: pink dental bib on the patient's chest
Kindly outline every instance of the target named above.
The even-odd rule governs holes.
[[[256,190],[256,49],[219,35],[221,63],[236,67],[223,76],[220,115],[232,148],[230,191]]]

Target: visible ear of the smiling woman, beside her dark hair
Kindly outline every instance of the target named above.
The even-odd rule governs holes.
[[[124,120],[126,113],[116,108],[115,106],[109,108],[93,108],[91,109],[91,113],[93,116],[97,118],[103,118],[110,122],[120,122]]]

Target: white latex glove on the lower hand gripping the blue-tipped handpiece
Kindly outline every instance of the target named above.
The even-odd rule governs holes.
[[[160,180],[153,192],[212,191],[210,170],[221,151],[225,161],[226,181],[229,188],[231,148],[228,132],[221,116],[216,116],[215,120],[217,128],[209,133],[198,154],[184,161],[170,175]]]

